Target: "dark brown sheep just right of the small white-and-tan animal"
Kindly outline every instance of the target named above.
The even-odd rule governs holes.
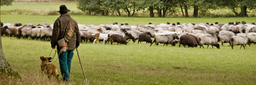
[[[117,44],[125,44],[125,45],[127,44],[126,39],[122,35],[119,35],[119,34],[112,34],[110,36],[110,42],[111,42],[111,44],[113,42],[117,42]]]

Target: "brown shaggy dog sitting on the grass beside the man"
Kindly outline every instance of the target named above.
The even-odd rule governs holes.
[[[42,64],[41,64],[42,74],[46,74],[48,78],[51,78],[51,76],[55,76],[58,79],[59,73],[56,66],[54,64],[49,64],[52,58],[51,57],[47,58],[42,56],[40,57],[40,59],[42,60]]]

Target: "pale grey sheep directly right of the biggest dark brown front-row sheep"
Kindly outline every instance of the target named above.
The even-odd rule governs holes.
[[[207,48],[209,47],[209,45],[211,45],[212,48],[213,46],[216,46],[219,49],[219,43],[216,41],[216,37],[213,37],[211,35],[201,35],[199,36],[199,41],[200,41],[200,48],[201,46],[203,47],[203,44],[205,44],[205,45],[208,45]]]

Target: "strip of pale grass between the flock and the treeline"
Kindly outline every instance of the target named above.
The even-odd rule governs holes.
[[[3,23],[21,23],[34,25],[40,23],[53,24],[55,19],[59,16],[40,16],[40,15],[1,15],[1,22]],[[225,18],[150,18],[150,17],[106,17],[106,16],[83,16],[83,15],[71,15],[79,24],[85,25],[100,25],[100,24],[112,24],[114,22],[128,23],[129,25],[146,25],[149,22],[153,24],[160,23],[229,23],[236,21],[246,21],[252,23],[256,21],[256,17],[225,17]]]

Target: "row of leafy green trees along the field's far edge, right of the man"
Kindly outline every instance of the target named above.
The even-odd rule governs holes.
[[[237,17],[256,14],[256,0],[77,0],[77,8],[89,15],[109,14],[133,17],[136,12],[149,13],[150,17],[166,17],[180,13],[189,17],[209,16],[211,10],[229,9]]]

